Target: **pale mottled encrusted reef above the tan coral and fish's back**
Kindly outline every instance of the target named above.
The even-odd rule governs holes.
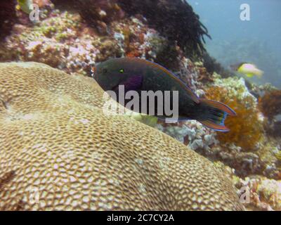
[[[110,57],[141,57],[178,68],[178,58],[164,57],[166,39],[137,18],[110,23],[110,33],[97,34],[78,13],[53,10],[32,26],[17,24],[0,44],[1,61],[35,61],[68,73],[89,75],[91,65]],[[166,45],[165,45],[166,46]],[[174,56],[177,52],[174,49]]]

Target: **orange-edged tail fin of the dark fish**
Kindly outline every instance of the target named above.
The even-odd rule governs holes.
[[[236,115],[233,109],[218,101],[211,101],[204,98],[200,98],[200,104],[204,113],[199,120],[197,119],[199,122],[216,131],[229,131],[224,121],[227,115]]]

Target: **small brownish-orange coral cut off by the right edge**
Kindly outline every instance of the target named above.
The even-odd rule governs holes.
[[[259,109],[269,120],[272,120],[275,115],[280,114],[281,90],[270,91],[259,98]]]

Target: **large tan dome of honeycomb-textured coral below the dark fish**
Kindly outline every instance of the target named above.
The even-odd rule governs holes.
[[[93,79],[0,63],[0,210],[242,210],[208,160],[102,113]]]

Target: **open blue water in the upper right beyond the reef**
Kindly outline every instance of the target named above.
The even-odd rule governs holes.
[[[212,39],[207,50],[225,67],[231,63],[255,63],[265,72],[252,82],[281,88],[280,0],[188,0]],[[240,5],[249,4],[250,20],[240,20]]]

